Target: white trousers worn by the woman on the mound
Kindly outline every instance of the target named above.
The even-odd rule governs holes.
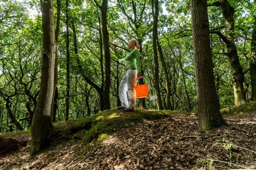
[[[124,77],[119,86],[119,98],[122,102],[121,107],[134,109],[136,104],[136,92],[134,86],[136,85],[137,70],[126,70]],[[127,99],[127,94],[128,99]]]

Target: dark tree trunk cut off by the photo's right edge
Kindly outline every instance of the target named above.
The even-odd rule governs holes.
[[[251,42],[251,60],[250,60],[250,79],[252,86],[252,101],[256,101],[256,16],[254,16],[254,25],[252,30]]]

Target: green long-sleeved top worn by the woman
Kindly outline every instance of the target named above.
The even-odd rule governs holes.
[[[137,68],[138,72],[141,73],[140,52],[137,49],[134,48],[132,51],[122,56],[117,50],[114,50],[114,52],[119,60],[125,59],[125,69]]]

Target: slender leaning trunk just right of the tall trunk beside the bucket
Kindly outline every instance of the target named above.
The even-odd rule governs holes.
[[[164,76],[165,76],[165,82],[166,82],[166,109],[170,110],[172,108],[171,106],[171,88],[170,88],[170,82],[169,82],[169,77],[168,77],[168,70],[166,68],[166,63],[164,62],[164,55],[162,52],[162,47],[160,46],[160,43],[157,39],[157,46],[158,46],[158,51],[159,51],[159,56],[160,56],[160,61],[162,64],[162,67],[164,68]]]

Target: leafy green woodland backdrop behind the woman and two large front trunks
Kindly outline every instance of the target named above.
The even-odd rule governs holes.
[[[140,45],[143,78],[137,84],[150,84],[150,88],[148,98],[137,100],[136,107],[159,109],[159,99],[161,109],[197,112],[190,1],[159,1],[157,89],[152,41],[154,5],[149,0],[108,0],[108,42],[127,48],[128,40],[136,39]],[[208,0],[207,6],[220,108],[256,100],[256,1]],[[118,84],[124,74],[124,62],[118,61],[112,46],[108,47],[109,61],[106,58],[102,9],[99,0],[53,1],[57,82],[52,121],[77,119],[106,109],[106,83],[110,88],[110,108],[120,105]],[[0,132],[31,126],[43,83],[42,42],[40,2],[2,0]],[[110,77],[104,81],[108,66]]]

